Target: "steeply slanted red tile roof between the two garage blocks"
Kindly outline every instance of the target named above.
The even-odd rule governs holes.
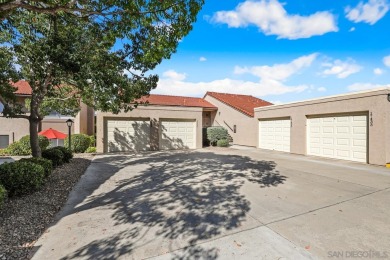
[[[231,106],[238,111],[254,117],[256,107],[263,107],[273,105],[272,103],[248,95],[238,95],[238,94],[227,94],[227,93],[218,93],[218,92],[207,92],[205,97],[209,95],[222,103],[225,103],[228,106]]]

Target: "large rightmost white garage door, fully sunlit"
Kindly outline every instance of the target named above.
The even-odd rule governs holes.
[[[307,154],[367,162],[367,116],[328,116],[307,120]]]

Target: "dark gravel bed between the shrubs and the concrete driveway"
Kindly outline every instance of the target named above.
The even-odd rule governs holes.
[[[28,259],[35,241],[52,223],[92,158],[75,155],[53,171],[42,190],[8,200],[0,210],[0,260]]]

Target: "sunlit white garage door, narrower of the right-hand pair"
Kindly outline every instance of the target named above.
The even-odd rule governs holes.
[[[290,152],[290,119],[259,121],[259,148]]]

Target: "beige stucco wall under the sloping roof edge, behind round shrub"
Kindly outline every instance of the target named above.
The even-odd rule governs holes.
[[[258,143],[257,119],[249,117],[209,95],[205,97],[205,100],[218,107],[218,111],[213,113],[213,126],[226,128],[233,137],[233,144],[256,146]],[[233,132],[234,125],[236,125],[236,133]]]

